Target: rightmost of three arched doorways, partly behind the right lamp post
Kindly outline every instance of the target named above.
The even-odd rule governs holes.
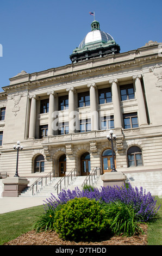
[[[116,168],[115,153],[114,153],[114,162],[115,162],[115,168]],[[103,168],[103,173],[111,172],[113,168],[113,156],[112,156],[111,149],[105,149],[102,153],[102,168]]]

